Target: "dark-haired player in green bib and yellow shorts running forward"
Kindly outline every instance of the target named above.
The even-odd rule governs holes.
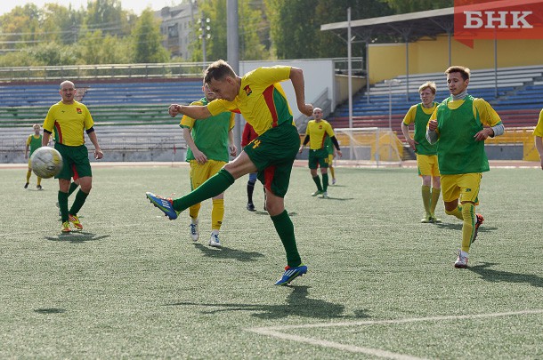
[[[469,248],[484,220],[475,213],[482,172],[490,170],[484,140],[503,134],[505,129],[488,102],[467,93],[469,68],[453,66],[445,74],[450,97],[430,116],[426,138],[437,145],[445,212],[464,221],[462,245],[454,266],[467,268]]]

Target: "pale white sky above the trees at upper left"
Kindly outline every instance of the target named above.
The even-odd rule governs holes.
[[[72,8],[80,9],[82,6],[86,9],[88,0],[2,0],[0,1],[0,15],[6,12],[11,12],[15,6],[24,4],[36,4],[38,7],[44,6],[47,3],[56,3],[68,7],[72,4]],[[165,6],[173,6],[182,3],[182,0],[121,0],[124,10],[132,10],[135,14],[140,15],[147,6],[153,10],[160,10]]]

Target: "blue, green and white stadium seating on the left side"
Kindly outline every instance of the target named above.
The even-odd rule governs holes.
[[[189,104],[202,97],[201,79],[179,81],[77,82],[77,100],[90,109],[101,148],[109,153],[185,148],[180,118],[167,113],[170,103]],[[60,100],[59,84],[0,84],[0,148],[21,151],[32,124],[43,124]],[[30,132],[29,132],[30,130]],[[92,144],[87,141],[92,148]],[[152,156],[151,156],[152,157]]]

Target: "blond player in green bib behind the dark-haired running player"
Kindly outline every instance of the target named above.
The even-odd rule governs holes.
[[[426,125],[437,107],[435,83],[425,82],[418,87],[421,102],[409,108],[401,122],[401,132],[417,155],[418,175],[422,178],[422,204],[425,217],[420,222],[442,222],[435,216],[435,207],[441,193],[440,171],[434,144],[426,140]],[[409,124],[413,124],[413,138],[409,135]]]

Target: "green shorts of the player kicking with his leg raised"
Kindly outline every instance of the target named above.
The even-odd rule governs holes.
[[[292,165],[300,148],[300,135],[296,126],[280,124],[273,127],[243,150],[258,169],[257,177],[275,196],[285,197]]]

